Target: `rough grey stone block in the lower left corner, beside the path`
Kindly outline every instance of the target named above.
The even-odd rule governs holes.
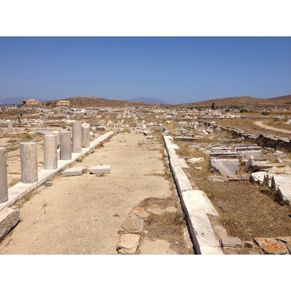
[[[0,241],[20,220],[20,211],[5,207],[0,211]]]

